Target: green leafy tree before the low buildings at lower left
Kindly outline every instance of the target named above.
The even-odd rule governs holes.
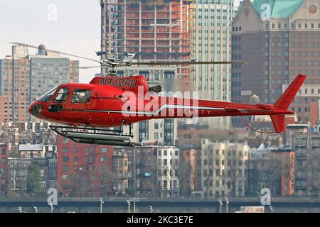
[[[26,181],[27,193],[38,194],[41,191],[40,181],[40,167],[38,167],[38,165],[30,165],[28,167],[28,177]]]

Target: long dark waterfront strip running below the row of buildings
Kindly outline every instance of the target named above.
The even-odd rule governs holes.
[[[0,200],[0,213],[17,213],[18,206],[22,207],[23,212],[34,213],[37,207],[40,213],[50,213],[50,206],[45,200]],[[149,213],[150,206],[154,213],[218,213],[218,201],[196,201],[196,200],[158,200],[147,201],[146,199],[136,203],[137,213]],[[235,213],[239,211],[241,206],[261,206],[257,199],[237,199],[231,200],[228,204],[228,212]],[[100,201],[93,199],[61,199],[58,206],[53,206],[53,213],[100,213]],[[272,201],[274,213],[320,213],[320,201],[310,201],[307,199],[294,199],[289,201],[286,199]],[[134,204],[131,201],[131,212],[133,212]],[[225,213],[225,202],[221,208]],[[106,200],[102,206],[103,213],[127,213],[128,205],[126,199],[110,199]],[[265,206],[265,212],[270,213],[269,206]]]

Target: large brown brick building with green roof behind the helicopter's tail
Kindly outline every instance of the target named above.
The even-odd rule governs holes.
[[[269,4],[267,7],[264,4]],[[267,8],[266,8],[267,7]],[[310,103],[320,96],[320,2],[245,0],[233,21],[232,101],[247,103],[252,94],[274,104],[297,77],[308,77],[290,109],[297,121],[310,121]],[[268,11],[270,9],[270,11]],[[242,126],[234,118],[233,126]]]

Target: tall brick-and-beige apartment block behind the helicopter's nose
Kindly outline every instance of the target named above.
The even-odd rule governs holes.
[[[14,76],[12,76],[14,74]],[[28,122],[28,105],[58,84],[79,82],[79,62],[39,45],[36,55],[15,45],[0,59],[0,122]]]

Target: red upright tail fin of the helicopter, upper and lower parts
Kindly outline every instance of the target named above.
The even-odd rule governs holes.
[[[274,104],[274,109],[278,111],[287,111],[290,104],[292,103],[294,97],[299,92],[299,89],[302,87],[306,79],[306,75],[299,74],[296,79],[289,85],[286,91],[279,97],[277,102]],[[276,133],[282,133],[285,131],[284,115],[271,115],[271,120],[274,126],[274,131]]]

